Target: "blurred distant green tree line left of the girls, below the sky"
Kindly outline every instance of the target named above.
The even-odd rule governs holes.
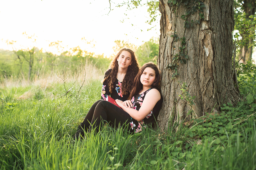
[[[27,78],[29,63],[26,62],[25,58],[28,56],[29,52],[23,50],[18,50],[15,54],[10,53],[10,51],[0,51],[0,59],[4,60],[3,63],[0,63],[0,81],[4,77],[7,79],[10,77],[17,79]],[[50,52],[44,53],[36,48],[31,79],[35,79],[40,75],[50,75],[67,70],[77,73],[79,71],[77,70],[77,65],[80,65],[80,62],[107,70],[110,61],[110,58],[103,55],[95,55],[94,53],[82,50],[80,47],[75,47],[72,49],[72,52],[65,51],[60,55]]]

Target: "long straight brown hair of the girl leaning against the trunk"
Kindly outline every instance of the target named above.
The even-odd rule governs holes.
[[[133,96],[135,96],[136,94],[138,94],[141,91],[143,86],[142,86],[142,83],[140,82],[140,76],[142,75],[143,71],[147,67],[152,68],[155,71],[155,74],[156,74],[155,82],[152,84],[152,87],[158,87],[159,88],[160,73],[159,73],[159,70],[158,70],[157,66],[152,62],[145,63],[141,67],[140,71],[138,72],[138,74],[136,75],[136,77],[134,79],[133,89],[132,89],[132,92],[131,92],[128,100],[131,100]]]

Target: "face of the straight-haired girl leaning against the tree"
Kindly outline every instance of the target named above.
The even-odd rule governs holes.
[[[150,67],[146,67],[140,76],[140,82],[142,83],[143,86],[146,86],[146,87],[151,87],[152,84],[155,82],[155,79],[156,79],[155,70],[153,70]]]

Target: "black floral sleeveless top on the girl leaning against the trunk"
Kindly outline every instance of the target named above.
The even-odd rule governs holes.
[[[150,89],[146,90],[142,94],[137,94],[133,96],[131,100],[133,104],[132,108],[135,110],[139,110],[147,92],[151,89],[157,89],[160,92],[161,99],[156,103],[152,111],[142,121],[138,122],[135,119],[131,118],[131,122],[130,122],[131,127],[132,129],[134,129],[135,133],[141,131],[143,128],[146,128],[146,125],[154,126],[156,123],[157,116],[159,115],[159,111],[161,109],[162,102],[163,102],[163,97],[162,97],[161,91],[156,87],[151,87]]]

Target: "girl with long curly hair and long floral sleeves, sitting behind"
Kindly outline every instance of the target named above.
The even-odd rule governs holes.
[[[138,71],[139,65],[134,52],[129,48],[122,48],[105,72],[101,99],[106,100],[110,96],[115,100],[127,100]]]

